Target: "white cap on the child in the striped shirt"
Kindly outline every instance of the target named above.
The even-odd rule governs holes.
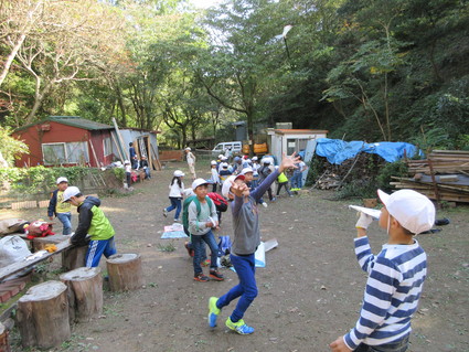
[[[434,226],[435,205],[427,196],[413,190],[398,190],[391,195],[377,190],[377,195],[387,212],[413,234]]]

